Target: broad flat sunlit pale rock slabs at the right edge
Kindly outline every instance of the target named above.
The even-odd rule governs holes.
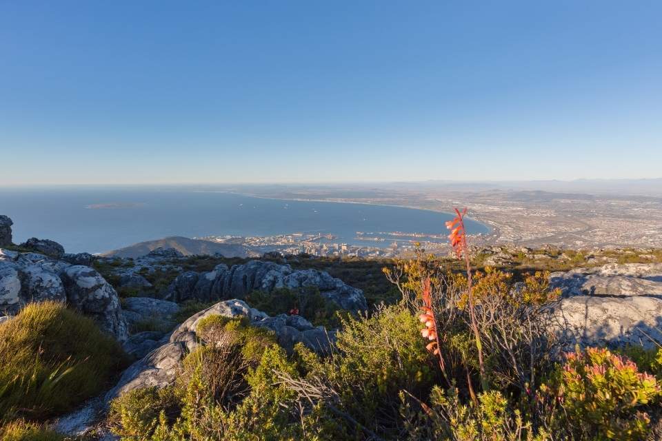
[[[563,298],[550,306],[566,345],[641,344],[662,341],[662,264],[604,265],[552,273]]]

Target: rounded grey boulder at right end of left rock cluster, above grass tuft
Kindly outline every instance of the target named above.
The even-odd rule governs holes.
[[[90,267],[73,265],[64,269],[61,277],[71,305],[92,316],[101,329],[113,334],[117,340],[126,340],[128,331],[121,315],[119,297],[101,274]]]

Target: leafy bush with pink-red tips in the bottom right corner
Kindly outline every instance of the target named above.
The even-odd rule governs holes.
[[[581,439],[641,440],[650,419],[644,406],[659,398],[654,376],[608,349],[568,354],[552,393]]]

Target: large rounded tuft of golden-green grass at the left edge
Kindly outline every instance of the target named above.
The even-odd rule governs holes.
[[[28,305],[0,325],[0,419],[43,418],[108,386],[121,347],[59,302]]]

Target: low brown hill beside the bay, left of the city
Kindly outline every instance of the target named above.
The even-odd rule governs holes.
[[[182,236],[171,236],[157,240],[147,240],[146,242],[136,243],[114,249],[103,253],[103,256],[109,257],[132,257],[137,258],[148,254],[153,249],[174,248],[184,256],[194,256],[199,254],[220,253],[225,257],[248,257],[249,252],[246,247],[239,244],[218,243],[211,240],[191,239]]]

